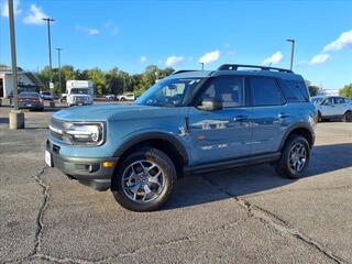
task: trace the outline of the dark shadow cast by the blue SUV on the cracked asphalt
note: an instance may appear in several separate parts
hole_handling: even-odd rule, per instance
[[[351,157],[352,143],[315,146],[306,177],[323,177],[324,173],[351,167]],[[244,196],[295,182],[277,176],[268,164],[190,176],[179,180],[175,195],[162,210],[228,199],[229,195],[219,191],[220,189],[226,189],[233,196]]]

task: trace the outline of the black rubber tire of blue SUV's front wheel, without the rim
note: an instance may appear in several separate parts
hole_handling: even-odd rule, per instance
[[[138,161],[147,161],[157,164],[163,172],[164,187],[158,196],[151,201],[135,201],[123,190],[123,174]],[[160,208],[172,195],[177,184],[177,174],[174,163],[162,151],[154,147],[138,148],[127,156],[114,172],[111,183],[111,190],[114,199],[124,208],[132,211],[153,211]]]

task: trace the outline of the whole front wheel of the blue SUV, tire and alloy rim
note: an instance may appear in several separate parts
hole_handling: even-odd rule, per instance
[[[151,211],[168,199],[176,183],[176,169],[170,158],[157,148],[143,147],[121,162],[111,189],[122,207]]]

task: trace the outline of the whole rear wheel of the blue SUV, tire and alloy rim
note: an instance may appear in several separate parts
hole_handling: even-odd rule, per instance
[[[275,164],[275,170],[286,178],[300,178],[309,164],[310,147],[307,140],[300,135],[292,135],[287,139],[282,156]]]

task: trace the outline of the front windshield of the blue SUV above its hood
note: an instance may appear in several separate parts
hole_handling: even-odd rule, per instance
[[[157,107],[180,107],[185,95],[193,90],[200,78],[169,78],[156,82],[147,89],[138,100],[136,105]]]

